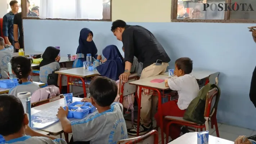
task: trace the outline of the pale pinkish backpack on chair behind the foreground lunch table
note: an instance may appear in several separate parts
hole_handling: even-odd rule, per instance
[[[36,90],[31,96],[31,103],[40,102],[42,100],[54,98],[55,96],[60,95],[59,87],[54,85],[43,87],[39,90]]]

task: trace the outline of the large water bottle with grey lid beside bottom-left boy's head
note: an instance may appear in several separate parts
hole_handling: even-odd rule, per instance
[[[31,127],[31,93],[30,92],[21,92],[17,94],[18,98],[21,100],[21,103],[24,108],[24,112],[27,113],[29,124]]]

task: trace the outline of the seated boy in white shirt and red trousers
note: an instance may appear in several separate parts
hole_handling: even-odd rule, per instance
[[[191,75],[193,69],[193,62],[190,58],[179,58],[175,61],[174,77],[169,78],[165,83],[166,87],[171,90],[178,91],[179,99],[172,100],[162,104],[162,114],[165,116],[183,117],[190,102],[197,97],[199,86],[196,77]],[[160,126],[158,112],[154,116],[157,121],[157,126]],[[168,122],[168,121],[167,121]],[[167,122],[163,121],[163,127],[166,127]],[[171,125],[170,136],[172,140],[180,135],[180,126]],[[165,130],[164,130],[165,131]]]

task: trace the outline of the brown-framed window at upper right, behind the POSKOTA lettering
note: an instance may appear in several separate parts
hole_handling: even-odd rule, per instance
[[[256,0],[172,0],[172,22],[256,22]]]

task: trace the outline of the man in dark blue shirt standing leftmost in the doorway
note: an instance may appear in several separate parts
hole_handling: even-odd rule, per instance
[[[17,0],[10,1],[11,11],[3,17],[3,33],[7,45],[14,46],[13,37],[13,19],[14,15],[19,11],[19,4]]]

